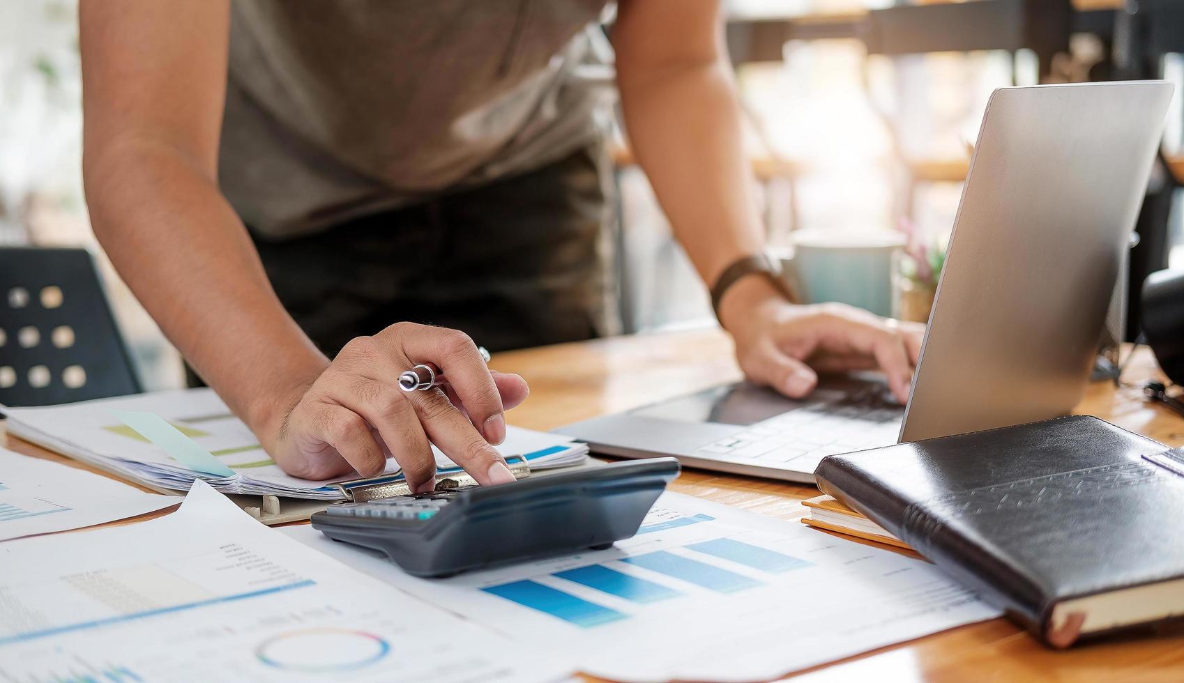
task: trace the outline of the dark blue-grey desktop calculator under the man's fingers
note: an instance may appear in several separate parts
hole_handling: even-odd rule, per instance
[[[384,553],[416,576],[609,548],[637,533],[678,476],[674,458],[651,458],[509,484],[462,487],[330,505],[313,527],[335,541]]]

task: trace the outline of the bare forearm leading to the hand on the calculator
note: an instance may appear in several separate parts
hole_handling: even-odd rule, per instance
[[[186,360],[257,433],[274,433],[328,360],[284,311],[245,227],[167,144],[88,150],[95,233]]]

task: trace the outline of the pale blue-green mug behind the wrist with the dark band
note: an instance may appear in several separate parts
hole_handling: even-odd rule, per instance
[[[892,315],[892,277],[905,236],[799,230],[790,234],[790,244],[774,258],[805,303],[839,302]]]

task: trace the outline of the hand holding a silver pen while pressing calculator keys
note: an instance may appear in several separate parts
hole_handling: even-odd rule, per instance
[[[399,373],[424,362],[448,378],[446,393],[399,389]],[[346,344],[263,440],[285,472],[308,479],[375,476],[393,457],[413,492],[431,490],[432,443],[478,483],[502,484],[514,475],[491,444],[527,393],[521,376],[490,371],[464,333],[400,322]]]

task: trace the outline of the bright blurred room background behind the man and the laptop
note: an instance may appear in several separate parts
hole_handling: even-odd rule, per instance
[[[903,314],[924,320],[991,91],[1162,77],[1177,95],[1130,278],[1184,268],[1184,2],[731,0],[727,8],[754,199],[771,244],[787,246],[798,231],[899,231],[908,256],[896,310],[912,307]],[[179,387],[176,353],[102,257],[86,220],[76,12],[75,0],[0,4],[0,244],[91,249],[144,388]],[[605,88],[620,327],[710,324],[706,290],[616,124],[610,78]]]

